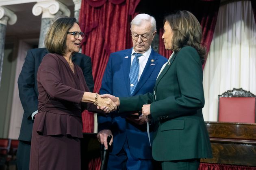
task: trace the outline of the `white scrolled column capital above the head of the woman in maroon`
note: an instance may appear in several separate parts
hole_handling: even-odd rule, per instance
[[[67,6],[56,0],[37,2],[33,6],[32,13],[35,16],[42,13],[42,18],[54,18],[56,15],[70,16]]]

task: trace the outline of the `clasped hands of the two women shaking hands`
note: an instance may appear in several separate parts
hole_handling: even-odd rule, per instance
[[[99,95],[97,99],[97,108],[104,111],[105,113],[110,113],[117,110],[120,105],[119,98],[110,94]]]

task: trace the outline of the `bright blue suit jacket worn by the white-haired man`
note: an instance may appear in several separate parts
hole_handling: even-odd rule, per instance
[[[132,49],[111,53],[104,76],[100,94],[112,94],[119,97],[130,96],[130,64]],[[152,92],[156,77],[167,59],[153,49],[141,78],[134,91],[134,96]],[[148,140],[146,125],[136,125],[125,119],[125,115],[110,113],[108,116],[98,116],[98,129],[110,129],[113,133],[112,155],[119,153],[126,138],[130,152],[137,158],[152,159],[152,147]],[[152,139],[152,133],[150,133]],[[152,143],[152,141],[151,141]]]

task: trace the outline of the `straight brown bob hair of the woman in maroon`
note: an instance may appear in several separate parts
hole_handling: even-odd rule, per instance
[[[77,23],[76,19],[70,17],[61,17],[52,23],[44,40],[46,49],[50,53],[65,54],[67,32],[74,23]]]

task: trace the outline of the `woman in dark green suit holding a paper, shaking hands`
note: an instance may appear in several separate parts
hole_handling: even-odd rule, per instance
[[[158,75],[153,93],[111,99],[119,113],[141,110],[157,122],[152,155],[163,170],[197,170],[200,158],[212,157],[202,108],[204,90],[202,29],[188,11],[168,15],[162,39],[170,59]]]

